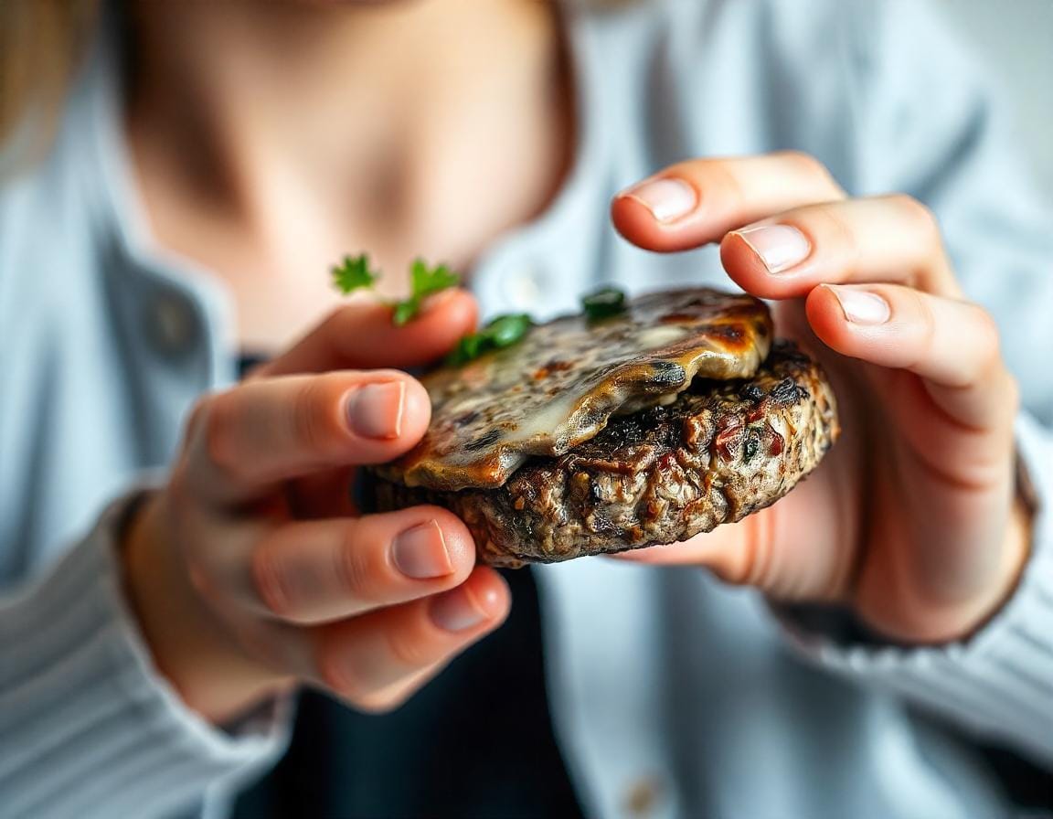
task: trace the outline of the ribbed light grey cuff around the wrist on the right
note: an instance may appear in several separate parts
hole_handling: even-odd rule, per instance
[[[820,664],[1053,765],[1053,441],[1026,418],[1017,440],[1038,501],[1031,557],[1012,598],[978,633],[932,647],[846,645],[792,618],[783,623]]]

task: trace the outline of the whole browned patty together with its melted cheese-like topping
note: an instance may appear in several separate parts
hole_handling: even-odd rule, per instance
[[[838,432],[821,368],[771,333],[763,303],[704,288],[535,326],[424,376],[429,431],[367,471],[366,499],[451,508],[505,566],[740,520],[790,492]]]

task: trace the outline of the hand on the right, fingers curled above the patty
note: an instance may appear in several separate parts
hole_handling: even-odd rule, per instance
[[[932,214],[906,196],[848,199],[816,160],[787,153],[674,165],[620,194],[613,218],[648,249],[719,241],[729,276],[779,302],[779,335],[826,366],[843,430],[777,504],[630,559],[847,603],[907,642],[980,625],[1027,557],[1017,388]]]

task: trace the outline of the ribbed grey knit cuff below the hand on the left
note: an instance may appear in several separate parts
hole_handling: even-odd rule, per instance
[[[232,736],[191,712],[152,667],[115,559],[126,502],[39,582],[0,598],[4,817],[193,812],[211,788],[233,786],[281,751],[280,714]]]

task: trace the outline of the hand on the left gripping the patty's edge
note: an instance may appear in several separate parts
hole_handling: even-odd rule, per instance
[[[396,328],[350,304],[245,382],[202,399],[167,486],[125,541],[126,582],[154,661],[221,723],[300,682],[394,707],[499,625],[509,593],[436,506],[359,517],[356,464],[410,450],[431,416],[405,373],[470,332],[451,292]]]

